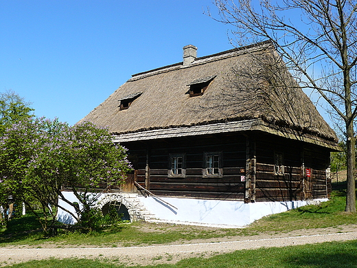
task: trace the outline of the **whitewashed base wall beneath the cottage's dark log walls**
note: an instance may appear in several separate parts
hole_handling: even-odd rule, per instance
[[[63,194],[70,201],[78,201],[71,192],[63,192]],[[100,199],[104,196],[105,194]],[[139,196],[138,198],[157,219],[162,221],[229,225],[235,227],[248,225],[263,216],[284,212],[307,204],[306,201],[244,203],[242,201],[161,198],[161,200],[174,205],[176,209],[156,197]],[[327,201],[327,199],[319,199],[319,201]],[[67,205],[63,201],[59,202],[65,208],[74,212],[74,209],[70,205]],[[57,218],[58,221],[63,223],[76,223],[76,220],[63,210],[58,210]]]

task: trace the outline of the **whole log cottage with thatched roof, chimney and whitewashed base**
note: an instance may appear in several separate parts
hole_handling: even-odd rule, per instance
[[[82,119],[128,148],[135,171],[120,192],[156,219],[227,225],[327,200],[336,135],[272,43],[196,50],[133,75]]]

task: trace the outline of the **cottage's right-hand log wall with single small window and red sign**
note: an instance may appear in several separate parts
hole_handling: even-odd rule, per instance
[[[256,150],[256,201],[297,201],[327,197],[326,168],[330,153],[324,148],[282,137],[260,135],[257,137]],[[284,174],[275,172],[275,154],[283,157]],[[312,170],[309,178],[306,168]]]

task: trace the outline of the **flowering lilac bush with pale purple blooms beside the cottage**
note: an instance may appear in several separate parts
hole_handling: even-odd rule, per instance
[[[47,218],[54,213],[48,206],[58,207],[58,197],[76,209],[73,214],[62,208],[80,223],[96,201],[90,193],[123,183],[130,168],[126,148],[89,122],[69,126],[46,118],[23,120],[0,137],[0,194],[12,194],[34,212],[34,204],[40,204],[45,231],[55,219],[54,214]],[[81,205],[65,199],[62,187],[73,191]]]

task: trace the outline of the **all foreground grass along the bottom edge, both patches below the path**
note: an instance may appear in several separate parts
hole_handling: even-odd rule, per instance
[[[152,260],[153,262],[155,260]],[[127,267],[120,260],[36,260],[12,267],[19,268],[112,268]],[[140,267],[140,266],[130,266]],[[353,268],[357,267],[357,241],[299,245],[294,247],[271,247],[254,250],[241,250],[211,258],[187,258],[174,265],[148,265],[156,268],[209,267],[209,268]]]

